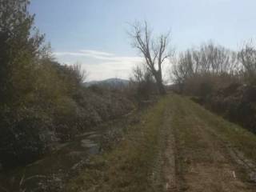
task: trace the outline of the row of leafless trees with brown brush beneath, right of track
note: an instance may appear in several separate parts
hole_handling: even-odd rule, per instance
[[[180,92],[206,96],[231,82],[254,85],[255,59],[253,44],[233,51],[209,42],[181,53],[171,75]]]

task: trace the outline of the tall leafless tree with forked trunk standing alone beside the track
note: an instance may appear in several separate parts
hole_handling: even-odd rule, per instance
[[[136,22],[132,25],[130,36],[133,38],[134,48],[137,48],[145,58],[146,67],[154,76],[159,93],[166,94],[162,82],[162,63],[171,56],[171,51],[167,52],[170,33],[152,38],[147,22]]]

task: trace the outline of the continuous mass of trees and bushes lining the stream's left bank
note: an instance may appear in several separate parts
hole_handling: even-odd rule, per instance
[[[134,106],[122,90],[84,86],[86,71],[55,61],[30,1],[0,3],[0,166],[34,162],[90,126]]]

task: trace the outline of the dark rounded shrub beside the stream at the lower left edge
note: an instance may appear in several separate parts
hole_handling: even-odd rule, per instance
[[[33,162],[46,152],[54,134],[51,119],[38,110],[2,110],[0,146],[3,166]]]

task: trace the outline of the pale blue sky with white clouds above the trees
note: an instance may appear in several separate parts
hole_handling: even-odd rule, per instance
[[[126,31],[146,20],[171,31],[176,51],[212,40],[237,50],[256,37],[255,0],[32,0],[36,26],[59,62],[80,62],[88,80],[129,78],[141,62]]]

